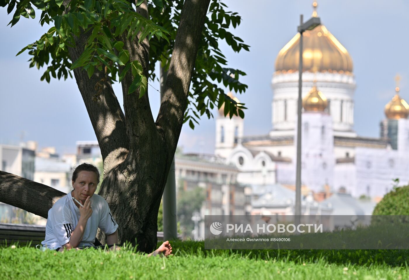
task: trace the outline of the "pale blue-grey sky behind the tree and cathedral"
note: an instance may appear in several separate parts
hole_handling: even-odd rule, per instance
[[[267,134],[271,127],[271,77],[279,50],[296,34],[299,15],[308,19],[310,0],[228,0],[227,10],[242,16],[232,31],[250,45],[250,52],[236,54],[222,45],[229,67],[247,73],[249,87],[241,102],[245,113],[245,135]],[[318,16],[327,29],[346,47],[354,63],[356,78],[355,126],[360,136],[379,137],[383,108],[394,95],[396,73],[402,76],[400,95],[409,101],[409,1],[320,0]],[[39,16],[40,13],[36,13]],[[73,153],[77,140],[96,140],[76,83],[72,79],[50,84],[40,81],[42,70],[29,68],[26,53],[15,56],[36,41],[49,27],[38,19],[21,18],[7,27],[11,15],[0,8],[0,143],[38,141],[40,147],[55,146],[57,152]],[[151,83],[158,88],[157,83]],[[115,91],[121,91],[115,86]],[[151,108],[156,118],[159,93],[149,87]],[[216,110],[213,112],[216,116]],[[215,121],[203,120],[191,130],[182,129],[179,145],[185,152],[213,153]]]

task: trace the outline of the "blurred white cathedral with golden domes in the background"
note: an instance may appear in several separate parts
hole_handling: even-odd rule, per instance
[[[245,136],[243,120],[219,110],[215,154],[238,167],[240,183],[295,185],[299,37],[297,33],[276,58],[269,133]],[[302,186],[312,192],[381,198],[392,189],[393,179],[407,184],[409,105],[398,86],[385,106],[380,138],[360,137],[353,130],[356,84],[348,51],[324,25],[303,34],[303,49]]]

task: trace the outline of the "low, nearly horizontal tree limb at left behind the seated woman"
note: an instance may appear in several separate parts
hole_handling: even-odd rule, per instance
[[[20,176],[0,171],[0,201],[47,218],[48,210],[65,193]]]

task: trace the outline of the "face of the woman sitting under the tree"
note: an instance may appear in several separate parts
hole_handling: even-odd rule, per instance
[[[90,198],[94,195],[97,190],[98,178],[97,174],[92,171],[80,171],[75,182],[72,181],[72,196],[82,203],[85,202],[88,196]]]

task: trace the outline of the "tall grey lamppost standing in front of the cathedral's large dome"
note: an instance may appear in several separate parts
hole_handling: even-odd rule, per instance
[[[298,124],[297,124],[297,169],[295,180],[295,223],[298,225],[301,221],[301,90],[302,90],[302,74],[303,74],[303,33],[306,30],[312,30],[321,24],[318,17],[310,18],[306,23],[303,23],[303,15],[300,15],[300,25],[297,31],[300,33],[300,60],[299,60],[299,77],[298,77]]]

